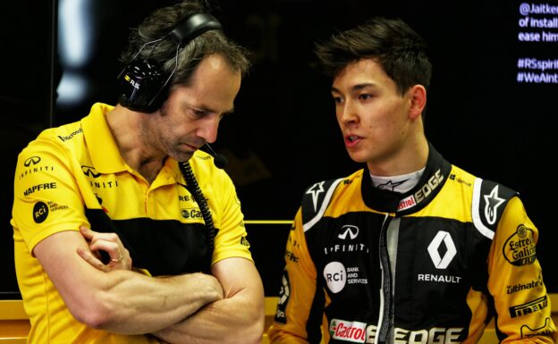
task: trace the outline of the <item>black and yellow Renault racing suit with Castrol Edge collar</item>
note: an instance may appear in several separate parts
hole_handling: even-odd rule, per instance
[[[538,231],[518,194],[429,145],[418,185],[317,182],[289,234],[272,343],[553,343]],[[533,341],[536,342],[536,341]]]

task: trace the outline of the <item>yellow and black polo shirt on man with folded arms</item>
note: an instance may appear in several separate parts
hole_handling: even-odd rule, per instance
[[[81,224],[111,231],[112,223],[135,267],[153,275],[202,269],[207,231],[177,162],[167,158],[149,185],[119,153],[105,118],[112,108],[97,103],[80,122],[44,130],[18,157],[11,223],[30,344],[157,342],[95,330],[73,318],[32,255],[56,232],[79,231]],[[190,159],[217,229],[212,263],[232,256],[251,260],[232,180],[212,160],[201,151]]]

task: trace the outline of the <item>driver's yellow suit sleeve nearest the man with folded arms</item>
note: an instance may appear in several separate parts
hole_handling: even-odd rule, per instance
[[[300,209],[287,239],[284,259],[275,321],[267,331],[269,340],[272,344],[309,343],[312,340],[308,323],[316,294],[317,273],[309,256]]]

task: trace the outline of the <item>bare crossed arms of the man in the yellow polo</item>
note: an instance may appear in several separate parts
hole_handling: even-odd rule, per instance
[[[128,270],[130,256],[115,234],[82,233],[56,233],[33,251],[79,322],[115,333],[153,333],[170,343],[261,340],[263,287],[248,260],[224,259],[213,275],[153,278]],[[114,261],[100,264],[90,254],[98,250]]]

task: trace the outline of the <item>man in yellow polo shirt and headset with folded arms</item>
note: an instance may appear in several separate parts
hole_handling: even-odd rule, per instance
[[[19,155],[28,342],[258,343],[264,295],[241,205],[199,150],[233,110],[245,52],[185,2],[152,13],[123,56],[118,105],[93,105]]]

